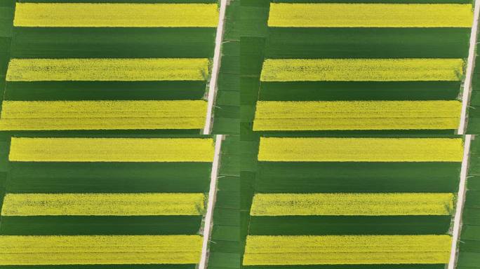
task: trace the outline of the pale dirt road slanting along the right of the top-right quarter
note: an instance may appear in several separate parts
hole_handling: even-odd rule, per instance
[[[476,34],[479,27],[479,15],[480,15],[480,0],[475,1],[474,8],[474,21],[472,24],[472,32],[470,33],[470,46],[468,50],[467,72],[465,74],[465,82],[463,83],[462,92],[462,111],[460,113],[460,125],[458,127],[458,135],[465,135],[465,129],[467,127],[467,107],[470,101],[470,92],[472,91],[472,74],[475,67],[475,54],[476,54]]]

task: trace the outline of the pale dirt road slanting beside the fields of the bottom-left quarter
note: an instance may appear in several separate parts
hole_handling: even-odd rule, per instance
[[[208,190],[208,205],[204,223],[204,242],[201,246],[201,258],[199,269],[205,269],[208,262],[208,242],[213,228],[213,209],[217,198],[217,179],[220,167],[220,152],[224,135],[215,135],[215,156],[213,156],[212,172],[210,176],[210,188]]]

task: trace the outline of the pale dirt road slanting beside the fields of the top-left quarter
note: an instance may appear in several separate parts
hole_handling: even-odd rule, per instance
[[[210,135],[213,123],[213,105],[217,95],[218,74],[220,72],[220,61],[222,53],[222,41],[225,26],[225,11],[227,9],[227,0],[220,0],[220,15],[218,16],[217,34],[215,35],[215,50],[213,53],[212,76],[208,84],[208,108],[205,118],[204,135]]]

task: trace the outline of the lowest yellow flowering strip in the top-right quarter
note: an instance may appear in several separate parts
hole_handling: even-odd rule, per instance
[[[460,101],[258,101],[253,130],[456,129]]]

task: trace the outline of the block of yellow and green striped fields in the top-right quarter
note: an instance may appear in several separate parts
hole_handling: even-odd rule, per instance
[[[263,3],[254,131],[458,128],[470,1]]]

